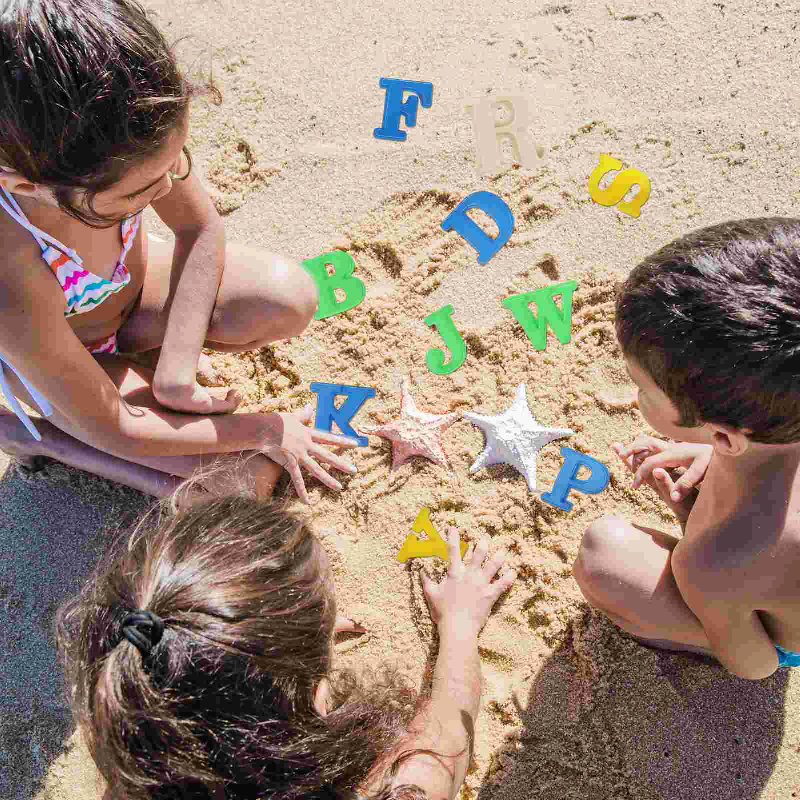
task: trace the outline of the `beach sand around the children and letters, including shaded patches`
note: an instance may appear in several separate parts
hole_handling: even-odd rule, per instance
[[[374,386],[358,428],[398,414],[404,375],[419,408],[437,414],[499,413],[526,382],[538,422],[576,432],[543,450],[538,491],[552,486],[562,444],[610,466],[606,491],[572,494],[567,514],[508,467],[470,475],[483,438],[462,421],[444,438],[452,471],[416,458],[390,474],[390,446],[372,438],[342,494],[310,482],[342,611],[370,630],[338,645],[342,662],[392,659],[430,676],[419,562],[395,558],[426,506],[440,529],[489,533],[521,570],[481,637],[478,745],[462,798],[800,793],[798,673],[747,682],[710,660],[646,650],[586,606],[570,570],[601,514],[677,530],[650,490],[630,489],[610,451],[646,429],[614,340],[614,287],[689,230],[796,214],[800,13],[752,0],[735,9],[676,0],[148,5],[171,41],[194,35],[181,58],[213,68],[224,94],[221,108],[196,104],[190,144],[229,238],[298,260],[347,250],[367,286],[361,306],[302,338],[215,358],[247,410],[297,409],[315,380]],[[406,142],[373,136],[382,76],[434,84],[433,106],[420,108]],[[530,131],[547,161],[479,178],[463,104],[499,91],[530,98]],[[650,177],[640,218],[591,202],[587,181],[604,152]],[[516,220],[486,266],[440,227],[477,190],[500,194]],[[550,334],[537,352],[502,298],[569,279],[578,282],[572,341]],[[423,318],[446,304],[469,356],[440,377],[426,368],[440,342]],[[7,470],[0,483],[0,636],[10,643],[0,794],[89,800],[98,784],[59,706],[47,625],[90,568],[103,526],[146,498],[72,470],[50,475],[24,482]]]

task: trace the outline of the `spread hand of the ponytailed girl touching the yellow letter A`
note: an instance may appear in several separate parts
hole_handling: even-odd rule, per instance
[[[430,575],[422,570],[422,589],[430,616],[440,632],[448,630],[458,638],[477,638],[489,618],[492,606],[514,583],[517,574],[510,570],[492,583],[492,578],[498,574],[506,560],[506,551],[500,550],[484,565],[483,561],[489,551],[488,536],[484,536],[477,547],[470,546],[472,559],[469,564],[462,562],[458,530],[450,528],[442,538],[447,543],[447,556],[450,558],[447,577],[441,583],[434,583]]]

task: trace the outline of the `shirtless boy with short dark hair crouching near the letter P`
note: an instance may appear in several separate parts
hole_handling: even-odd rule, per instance
[[[615,450],[684,536],[598,519],[574,564],[583,594],[640,641],[742,678],[800,666],[800,219],[663,247],[622,287],[616,326],[642,415],[679,442]]]

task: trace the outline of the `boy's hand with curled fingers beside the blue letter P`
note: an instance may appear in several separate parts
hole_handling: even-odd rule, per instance
[[[646,483],[681,522],[686,522],[697,499],[697,486],[705,477],[714,453],[712,446],[665,442],[642,434],[627,447],[614,444],[614,451],[634,473],[634,489]],[[678,467],[686,467],[680,477],[674,471]]]

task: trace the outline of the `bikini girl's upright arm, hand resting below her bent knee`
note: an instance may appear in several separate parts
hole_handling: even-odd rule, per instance
[[[153,394],[174,410],[209,414],[233,410],[197,386],[198,358],[225,269],[225,226],[194,170],[173,182],[170,194],[153,203],[175,234],[173,280],[166,301],[166,334],[153,381]]]

